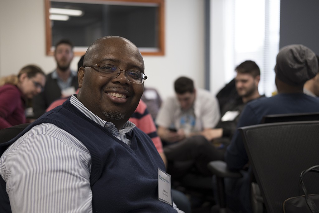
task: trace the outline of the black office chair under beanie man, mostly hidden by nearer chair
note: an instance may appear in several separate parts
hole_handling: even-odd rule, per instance
[[[311,121],[319,120],[319,113],[290,113],[274,114],[263,116],[262,123],[290,122],[290,121]],[[224,178],[241,178],[240,172],[232,172],[227,169],[224,161],[211,161],[207,165],[212,174],[216,175],[216,190],[219,200],[219,212],[226,212],[226,198],[224,193]],[[257,184],[252,183],[251,201],[254,213],[263,212],[263,197]]]

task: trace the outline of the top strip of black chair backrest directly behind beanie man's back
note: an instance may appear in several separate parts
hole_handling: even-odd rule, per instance
[[[263,116],[261,123],[263,124],[307,120],[319,120],[319,112],[265,115]]]

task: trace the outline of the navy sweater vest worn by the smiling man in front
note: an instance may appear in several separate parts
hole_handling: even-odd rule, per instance
[[[164,163],[151,139],[138,128],[132,131],[130,147],[115,138],[69,101],[34,121],[22,133],[0,147],[0,154],[32,126],[52,123],[72,134],[92,157],[90,183],[93,212],[175,212],[158,200],[158,168]],[[43,141],[45,142],[45,141]],[[1,202],[11,212],[5,182],[1,178]],[[6,203],[6,204],[5,204]],[[9,205],[9,206],[8,206]]]

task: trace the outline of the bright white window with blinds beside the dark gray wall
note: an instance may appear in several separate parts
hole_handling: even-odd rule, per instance
[[[252,60],[261,72],[259,93],[271,96],[276,90],[274,67],[279,51],[280,0],[211,0],[211,3],[211,90],[219,91],[235,77],[237,65]]]

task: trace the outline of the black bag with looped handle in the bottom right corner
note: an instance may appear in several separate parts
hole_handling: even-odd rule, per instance
[[[288,198],[283,206],[285,213],[319,213],[319,194],[309,194],[307,193],[307,189],[302,178],[309,171],[318,172],[319,165],[312,166],[309,169],[306,169],[301,172],[299,185],[302,187],[304,195],[298,197]]]

